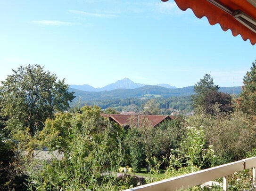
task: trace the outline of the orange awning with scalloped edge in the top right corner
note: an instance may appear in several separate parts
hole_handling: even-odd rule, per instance
[[[168,1],[168,0],[162,0]],[[185,11],[191,8],[198,18],[206,16],[209,23],[219,23],[223,31],[241,35],[256,44],[256,0],[174,0]]]

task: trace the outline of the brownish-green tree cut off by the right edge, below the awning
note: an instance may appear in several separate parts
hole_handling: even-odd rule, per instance
[[[256,116],[256,61],[243,79],[243,91],[237,99],[238,107],[245,113]]]

